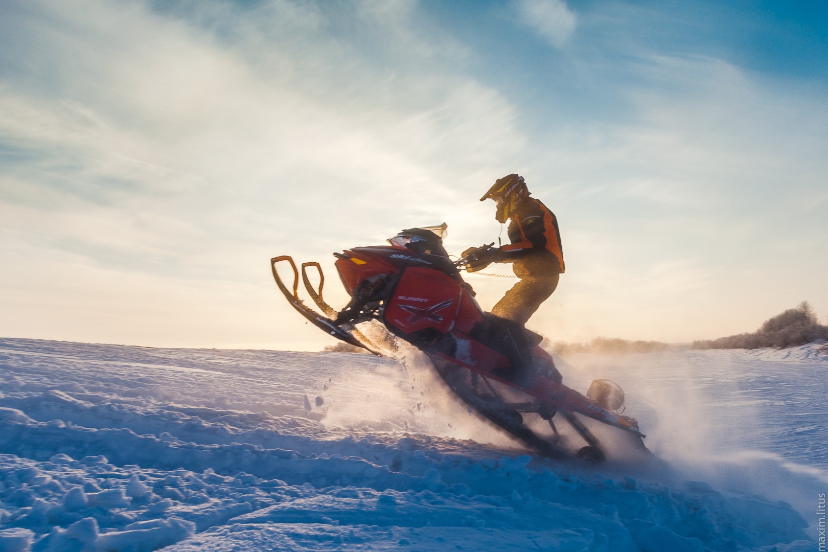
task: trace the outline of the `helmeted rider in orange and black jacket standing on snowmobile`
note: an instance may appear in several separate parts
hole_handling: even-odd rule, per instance
[[[483,270],[492,262],[511,262],[515,276],[520,281],[506,292],[494,305],[492,314],[498,320],[484,334],[508,334],[508,346],[504,353],[512,361],[516,381],[526,382],[532,373],[531,336],[523,328],[532,314],[541,306],[558,285],[564,271],[561,235],[555,214],[540,200],[529,197],[526,182],[520,175],[506,175],[495,181],[480,201],[494,199],[499,223],[506,223],[511,243],[497,248],[471,247],[463,252],[468,257],[466,269],[470,272]],[[501,328],[495,329],[496,326]]]

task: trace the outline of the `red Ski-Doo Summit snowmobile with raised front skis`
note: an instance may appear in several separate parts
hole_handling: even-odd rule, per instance
[[[445,223],[411,228],[388,239],[388,245],[334,253],[351,297],[343,310],[325,302],[325,276],[318,262],[301,265],[301,280],[321,312],[300,299],[300,270],[291,257],[271,259],[273,277],[300,314],[345,343],[390,357],[395,338],[411,343],[474,412],[543,456],[599,462],[614,456],[628,460],[630,451],[649,454],[638,422],[619,412],[619,386],[595,380],[586,395],[570,389],[539,346],[540,335],[516,329],[515,323],[479,307],[461,275],[474,259],[450,259],[442,245],[445,228]],[[291,288],[277,271],[279,263],[291,266]],[[318,275],[317,286],[310,282],[309,269]],[[515,331],[526,331],[522,343],[528,340],[531,346],[533,370],[522,382],[513,377],[520,360],[513,346]]]

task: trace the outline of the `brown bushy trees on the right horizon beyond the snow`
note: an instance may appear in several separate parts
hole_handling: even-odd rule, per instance
[[[795,309],[788,309],[772,319],[765,320],[753,334],[731,335],[727,338],[694,341],[695,349],[730,348],[784,348],[828,339],[828,326],[818,323],[816,314],[807,301]]]

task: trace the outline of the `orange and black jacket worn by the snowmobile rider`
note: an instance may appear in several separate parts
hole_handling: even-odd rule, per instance
[[[500,247],[498,261],[513,262],[520,277],[543,277],[565,269],[558,220],[538,199],[521,200],[509,223],[508,245]]]

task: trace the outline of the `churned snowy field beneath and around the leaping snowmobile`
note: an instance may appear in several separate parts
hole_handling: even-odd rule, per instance
[[[0,339],[0,551],[815,551],[822,348],[561,358],[670,463],[630,468],[526,454],[414,355]]]

